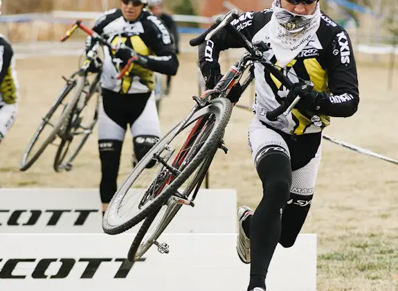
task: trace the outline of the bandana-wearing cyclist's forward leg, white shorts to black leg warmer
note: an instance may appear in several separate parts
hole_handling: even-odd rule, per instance
[[[246,219],[250,221],[246,223],[249,229],[245,232],[250,236],[251,249],[248,290],[253,290],[256,287],[265,289],[266,273],[280,239],[281,213],[291,187],[291,163],[282,136],[256,119],[249,128],[249,143],[264,191],[253,216]]]

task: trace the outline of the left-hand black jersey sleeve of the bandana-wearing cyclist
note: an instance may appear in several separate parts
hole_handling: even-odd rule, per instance
[[[249,40],[253,39],[253,36],[257,32],[259,26],[264,26],[265,23],[261,23],[264,20],[264,12],[245,12],[230,22],[237,30],[239,30]],[[213,69],[215,71],[220,70],[219,65],[219,53],[228,48],[242,48],[242,42],[239,41],[234,35],[231,35],[225,28],[216,33],[212,39],[199,45],[199,66],[201,72],[206,74],[206,71]]]

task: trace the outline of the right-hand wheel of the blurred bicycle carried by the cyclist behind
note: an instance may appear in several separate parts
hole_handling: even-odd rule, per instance
[[[89,86],[89,90],[81,92],[78,104],[73,108],[69,123],[61,134],[62,141],[58,146],[53,164],[56,172],[72,169],[72,161],[82,150],[84,143],[93,132],[98,120],[101,91],[98,81],[99,76],[96,76],[91,85],[88,83],[89,80],[86,80],[85,87]],[[76,137],[80,139],[73,143],[73,141],[76,141]]]

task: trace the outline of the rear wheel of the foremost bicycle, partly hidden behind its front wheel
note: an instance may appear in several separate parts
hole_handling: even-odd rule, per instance
[[[181,188],[183,188],[183,199],[187,201],[192,201],[192,199],[195,199],[197,191],[199,191],[201,183],[206,176],[216,151],[217,148],[213,149],[213,154],[203,161],[201,166],[199,166],[199,168],[192,173],[186,182],[181,185]],[[192,191],[194,192],[192,193]],[[127,259],[129,261],[138,261],[143,254],[145,254],[145,252],[147,252],[147,250],[154,245],[154,243],[158,245],[159,250],[161,250],[162,247],[168,249],[168,245],[158,243],[157,239],[159,236],[161,236],[163,231],[165,231],[172,219],[179,212],[181,206],[183,206],[183,203],[178,202],[178,197],[172,196],[169,198],[166,204],[161,206],[161,209],[155,211],[152,215],[145,218],[143,225],[138,230],[138,233],[136,234],[127,254]]]

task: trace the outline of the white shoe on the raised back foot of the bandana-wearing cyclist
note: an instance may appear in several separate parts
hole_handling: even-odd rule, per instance
[[[250,264],[250,239],[246,236],[243,230],[243,222],[248,218],[250,215],[253,215],[253,210],[251,210],[248,206],[241,206],[237,209],[237,219],[239,221],[239,234],[237,236],[236,242],[236,250],[237,255],[245,264]],[[256,289],[256,288],[255,288]],[[253,291],[263,291],[261,288],[260,290],[253,290]]]

